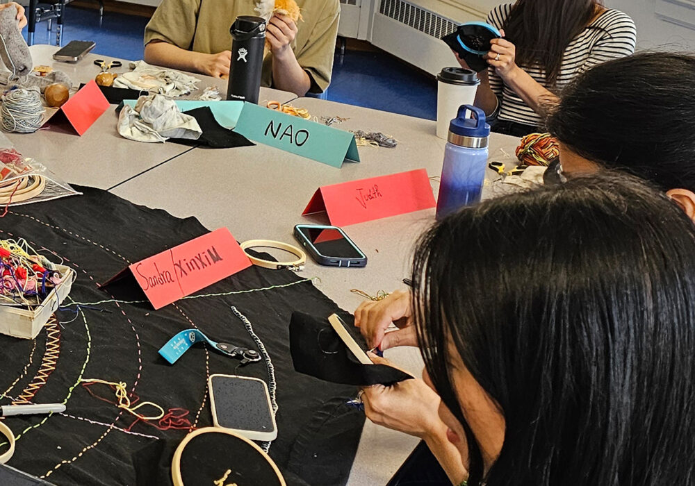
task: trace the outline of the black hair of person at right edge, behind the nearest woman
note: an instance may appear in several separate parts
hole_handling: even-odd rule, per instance
[[[647,52],[575,78],[547,120],[580,156],[695,191],[695,56]]]

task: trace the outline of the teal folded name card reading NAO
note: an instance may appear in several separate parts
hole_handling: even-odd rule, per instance
[[[244,103],[234,131],[259,144],[333,167],[341,167],[345,160],[359,162],[352,133],[253,103]]]

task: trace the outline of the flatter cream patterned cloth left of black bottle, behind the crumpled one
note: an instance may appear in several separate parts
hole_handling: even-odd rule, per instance
[[[168,97],[181,97],[198,89],[199,79],[173,69],[154,67],[145,61],[131,62],[133,71],[119,74],[113,81],[114,87],[127,87],[131,90],[146,90],[166,94]]]

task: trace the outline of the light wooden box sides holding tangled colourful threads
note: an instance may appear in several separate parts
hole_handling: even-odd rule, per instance
[[[70,294],[76,277],[75,271],[64,265],[56,265],[56,271],[63,278],[39,305],[33,308],[0,305],[0,333],[26,340],[33,340],[40,333],[67,294]]]

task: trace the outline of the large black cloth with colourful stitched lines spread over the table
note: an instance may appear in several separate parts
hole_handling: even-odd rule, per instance
[[[0,219],[0,238],[24,237],[52,260],[64,260],[76,270],[77,280],[66,303],[110,299],[97,288],[98,283],[130,262],[207,231],[193,218],[177,219],[102,190],[74,187],[84,196],[10,208]],[[292,284],[301,277],[292,271],[254,266],[197,293]],[[34,476],[50,472],[47,480],[58,486],[170,485],[172,455],[188,430],[162,431],[142,421],[133,425],[131,414],[91,396],[76,383],[79,378],[122,381],[133,392],[133,401],[137,396],[165,410],[183,408],[189,411],[191,424],[211,426],[206,377],[238,374],[267,381],[263,362],[238,368],[238,360],[196,345],[172,365],[158,355],[158,349],[194,325],[220,342],[256,349],[231,305],[252,322],[275,365],[278,437],[270,457],[288,485],[345,484],[364,422],[363,414],[345,404],[357,395],[357,387],[298,374],[290,355],[288,323],[294,310],[314,315],[341,312],[310,281],[263,292],[181,300],[158,311],[146,303],[95,304],[77,314],[58,310],[56,317],[63,322],[58,363],[34,401],[61,403],[70,395],[67,415],[6,419],[16,435],[22,433],[10,466]],[[46,337],[42,331],[34,343],[0,335],[0,392],[9,389],[1,405],[22,393],[37,374]],[[115,401],[113,390],[105,385],[90,389]],[[124,431],[131,425],[131,432],[140,435]],[[326,464],[332,464],[332,470]]]

